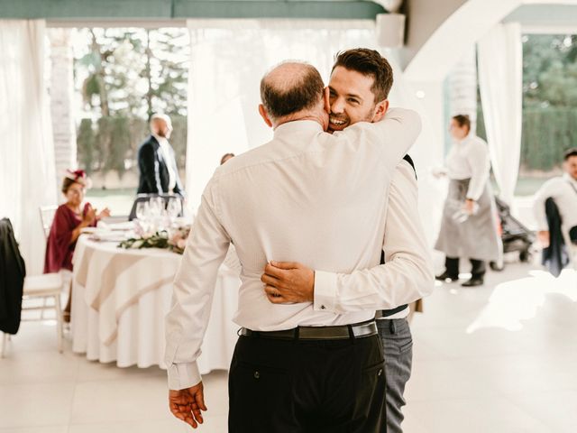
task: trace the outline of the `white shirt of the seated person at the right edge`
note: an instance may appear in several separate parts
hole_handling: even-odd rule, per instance
[[[573,189],[574,188],[574,189]],[[537,230],[548,231],[547,217],[545,215],[545,200],[553,198],[559,208],[559,214],[563,218],[563,230],[569,230],[577,226],[577,180],[568,173],[563,177],[547,180],[536,192],[533,211],[537,221]]]

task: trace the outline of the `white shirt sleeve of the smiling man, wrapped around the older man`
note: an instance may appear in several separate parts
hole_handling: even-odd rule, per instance
[[[382,244],[385,264],[350,274],[315,272],[315,305],[335,312],[394,309],[429,295],[433,259],[418,213],[415,170],[401,161],[389,189]],[[408,309],[387,318],[406,318]]]

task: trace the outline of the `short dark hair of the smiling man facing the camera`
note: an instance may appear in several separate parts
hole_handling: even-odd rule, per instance
[[[372,77],[371,92],[375,96],[375,102],[384,101],[389,97],[389,91],[393,85],[393,69],[379,51],[355,48],[337,52],[331,73],[337,66]]]

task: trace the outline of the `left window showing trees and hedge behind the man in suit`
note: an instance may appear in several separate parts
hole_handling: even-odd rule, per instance
[[[78,165],[89,199],[124,213],[138,182],[136,152],[148,119],[172,119],[170,137],[185,179],[189,38],[179,28],[78,29],[73,38]]]

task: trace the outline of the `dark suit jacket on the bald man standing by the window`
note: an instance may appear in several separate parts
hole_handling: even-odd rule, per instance
[[[182,182],[179,177],[179,169],[174,157],[174,151],[170,148],[170,161],[164,161],[160,151],[160,143],[153,135],[150,135],[138,148],[138,168],[140,180],[138,182],[138,194],[162,194],[175,193],[184,195]],[[169,191],[168,164],[176,174],[176,185]]]

